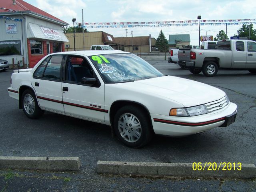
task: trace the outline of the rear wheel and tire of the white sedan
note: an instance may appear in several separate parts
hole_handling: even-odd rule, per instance
[[[30,89],[22,93],[22,109],[28,118],[36,119],[40,117],[44,110],[40,109],[34,92]]]

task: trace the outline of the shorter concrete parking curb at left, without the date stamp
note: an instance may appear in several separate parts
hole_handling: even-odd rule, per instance
[[[4,157],[0,156],[0,169],[78,171],[78,157]]]

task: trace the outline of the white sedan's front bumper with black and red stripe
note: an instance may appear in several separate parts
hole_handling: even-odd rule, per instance
[[[192,135],[216,127],[226,127],[236,119],[236,104],[215,114],[204,114],[192,117],[174,117],[151,114],[155,134],[166,136]]]

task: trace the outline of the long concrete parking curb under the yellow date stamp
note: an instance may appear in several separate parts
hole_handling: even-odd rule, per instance
[[[184,177],[219,177],[219,178],[241,178],[248,179],[256,177],[256,167],[254,164],[242,164],[239,171],[208,170],[209,166],[202,164],[202,170],[193,170],[192,163],[146,163],[146,162],[115,162],[115,161],[98,161],[97,172],[118,174],[118,175],[143,175],[143,176],[184,176]],[[217,164],[219,165],[219,163]],[[204,171],[203,171],[204,168]],[[212,168],[212,167],[210,167]],[[227,167],[225,167],[227,168]],[[225,169],[224,168],[224,169]],[[218,167],[217,167],[218,169]]]

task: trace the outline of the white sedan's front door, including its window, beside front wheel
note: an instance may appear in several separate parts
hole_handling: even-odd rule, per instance
[[[82,56],[68,56],[65,81],[62,83],[63,104],[66,114],[104,122],[104,83],[97,78],[88,60]],[[94,85],[82,84],[82,78],[97,78]]]

